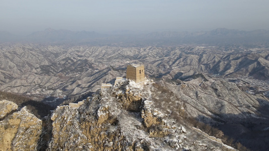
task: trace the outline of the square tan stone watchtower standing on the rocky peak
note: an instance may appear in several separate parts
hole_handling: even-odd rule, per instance
[[[136,83],[145,80],[145,70],[143,64],[128,64],[126,79],[133,80]]]

